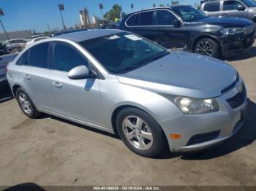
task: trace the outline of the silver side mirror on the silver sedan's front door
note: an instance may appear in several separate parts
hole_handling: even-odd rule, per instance
[[[67,77],[69,77],[69,79],[89,79],[95,78],[96,74],[94,71],[90,71],[87,66],[82,65],[71,69]]]

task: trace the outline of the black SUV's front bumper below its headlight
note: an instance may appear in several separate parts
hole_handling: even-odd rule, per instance
[[[222,55],[230,56],[241,52],[246,52],[255,42],[255,31],[252,34],[234,34],[219,36],[222,46]]]

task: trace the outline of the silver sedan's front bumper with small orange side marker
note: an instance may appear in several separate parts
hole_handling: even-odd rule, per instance
[[[233,90],[217,98],[219,112],[183,115],[160,121],[171,152],[193,152],[219,144],[233,136],[243,125],[249,100],[246,90],[243,103],[233,109],[227,99],[236,95]],[[170,139],[170,134],[181,135],[181,139]],[[194,139],[195,137],[202,137]],[[207,135],[207,136],[206,136]],[[214,136],[211,136],[214,135]],[[199,140],[199,141],[198,141]]]

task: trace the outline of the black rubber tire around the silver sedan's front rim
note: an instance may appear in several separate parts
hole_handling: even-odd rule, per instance
[[[123,125],[123,120],[128,116],[140,117],[141,120],[146,122],[146,126],[150,128],[151,134],[153,136],[153,142],[150,148],[146,150],[138,149],[127,140],[126,136],[124,135],[124,130],[122,125]],[[140,109],[129,107],[129,108],[122,109],[120,112],[118,112],[116,117],[116,127],[118,131],[118,135],[120,136],[124,144],[133,152],[143,157],[156,157],[167,146],[165,133],[163,133],[162,128],[160,127],[158,122],[154,120],[154,118],[151,117],[150,114]]]

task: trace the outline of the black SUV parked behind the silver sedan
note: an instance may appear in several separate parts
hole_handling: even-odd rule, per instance
[[[166,48],[219,58],[252,47],[252,21],[236,17],[209,17],[189,5],[159,7],[132,12],[120,29],[139,34]]]

